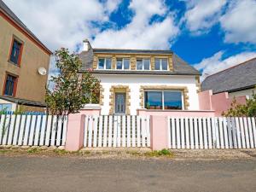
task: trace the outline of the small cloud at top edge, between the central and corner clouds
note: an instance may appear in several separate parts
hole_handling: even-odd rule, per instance
[[[192,0],[186,1],[188,11],[183,20],[190,32],[201,34],[208,32],[218,22],[226,0]]]

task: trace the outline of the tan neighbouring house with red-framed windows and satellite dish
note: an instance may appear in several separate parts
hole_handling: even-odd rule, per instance
[[[0,0],[0,110],[44,110],[52,54]]]

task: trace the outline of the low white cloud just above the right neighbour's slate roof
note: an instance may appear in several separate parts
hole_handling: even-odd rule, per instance
[[[200,63],[194,65],[195,68],[203,70],[202,79],[212,73],[217,73],[228,67],[235,66],[243,61],[256,57],[256,52],[242,52],[223,59],[224,51],[219,51],[211,57],[203,59]]]

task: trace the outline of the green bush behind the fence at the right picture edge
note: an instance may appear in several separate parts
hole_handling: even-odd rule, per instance
[[[234,98],[231,108],[223,115],[225,117],[256,117],[256,94],[247,99],[244,105],[237,103],[236,98]]]

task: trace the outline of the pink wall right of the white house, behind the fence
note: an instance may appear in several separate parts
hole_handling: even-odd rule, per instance
[[[229,97],[228,92],[212,94],[212,90],[206,90],[199,93],[199,106],[201,110],[214,110],[216,116],[227,111],[233,98]],[[246,103],[246,96],[236,97],[236,101],[241,104]]]

